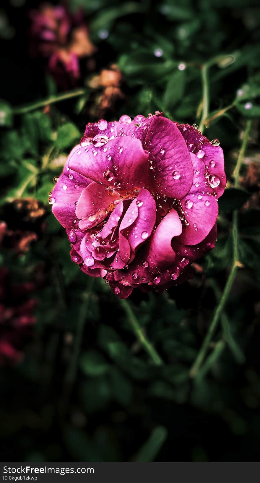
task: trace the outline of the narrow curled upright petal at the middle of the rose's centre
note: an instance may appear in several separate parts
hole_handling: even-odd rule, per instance
[[[140,189],[119,227],[119,255],[129,263],[137,248],[151,235],[156,217],[156,205],[149,191]]]

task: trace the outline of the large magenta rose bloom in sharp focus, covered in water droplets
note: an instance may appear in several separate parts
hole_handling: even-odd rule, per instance
[[[49,202],[73,262],[126,298],[192,277],[215,246],[225,185],[219,141],[157,111],[87,124]]]

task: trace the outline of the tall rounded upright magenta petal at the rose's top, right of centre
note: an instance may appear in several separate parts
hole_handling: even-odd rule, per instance
[[[153,117],[146,136],[156,192],[181,199],[192,186],[193,169],[178,127],[164,117]]]

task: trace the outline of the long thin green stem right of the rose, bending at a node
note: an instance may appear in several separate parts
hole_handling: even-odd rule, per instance
[[[236,167],[235,167],[235,170],[234,170],[234,176],[235,176],[234,185],[235,185],[235,187],[237,187],[238,184],[239,184],[239,172],[240,172],[240,167],[241,167],[243,158],[245,156],[246,146],[247,146],[247,142],[248,142],[248,139],[249,139],[251,124],[252,124],[252,121],[247,120],[242,145],[241,145],[241,148],[240,148],[240,151],[239,151],[239,155],[238,155],[237,162],[236,162]],[[215,329],[216,329],[218,322],[219,322],[219,317],[220,317],[222,310],[225,306],[225,303],[226,303],[228,295],[229,295],[229,291],[230,291],[231,286],[233,284],[233,280],[234,280],[236,270],[237,270],[238,267],[241,267],[241,263],[239,261],[239,253],[238,253],[238,211],[237,210],[235,210],[234,213],[233,213],[232,235],[233,235],[233,264],[232,264],[232,268],[231,268],[231,271],[229,273],[229,276],[228,276],[226,285],[224,287],[222,296],[219,300],[219,304],[217,305],[213,319],[211,321],[211,324],[208,328],[207,334],[206,334],[205,339],[203,341],[203,344],[202,344],[202,346],[199,350],[199,353],[198,353],[194,363],[192,364],[192,368],[190,370],[190,376],[193,377],[193,378],[198,373],[198,370],[199,370],[199,368],[200,368],[200,366],[201,366],[201,364],[204,360],[204,357],[207,353],[210,341],[211,341],[211,339],[212,339],[212,337],[215,333]]]

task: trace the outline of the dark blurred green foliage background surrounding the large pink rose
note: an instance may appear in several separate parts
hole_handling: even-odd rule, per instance
[[[28,11],[37,5],[13,0],[1,6],[2,109],[10,110],[11,117],[13,108],[59,92],[43,59],[28,54]],[[1,266],[7,270],[2,304],[17,308],[25,299],[37,300],[36,323],[18,341],[23,359],[1,361],[1,459],[259,461],[260,7],[243,0],[68,2],[69,10],[78,7],[83,7],[98,49],[91,70],[82,61],[82,104],[76,98],[44,112],[30,110],[14,115],[1,129],[0,218],[9,229],[1,247]],[[102,30],[108,30],[104,40]],[[156,48],[162,57],[154,56]],[[216,248],[198,261],[191,282],[163,295],[136,290],[129,298],[164,360],[164,366],[154,367],[109,287],[96,279],[92,286],[71,262],[48,192],[62,169],[60,156],[78,142],[87,122],[98,120],[101,89],[89,87],[93,75],[115,63],[122,71],[124,97],[103,115],[107,120],[159,110],[193,124],[200,117],[201,66],[219,56],[222,60],[209,72],[210,114],[233,103],[238,89],[243,87],[245,95],[205,129],[209,139],[220,141],[228,177],[219,201]],[[179,63],[185,63],[183,71]],[[246,102],[252,103],[250,110]],[[246,118],[252,118],[252,128],[241,189],[228,191]],[[59,137],[57,144],[54,133],[63,126],[66,141]],[[32,181],[28,162],[38,173]],[[41,207],[33,220],[27,206],[21,210],[17,205],[17,199],[28,198]],[[189,369],[232,263],[234,209],[239,209],[242,268],[225,306],[232,342],[226,341],[219,321],[208,354],[221,340],[223,350],[204,374],[191,380]],[[27,232],[36,238],[27,250],[17,250],[17,240]],[[19,295],[15,284],[27,283],[26,296]],[[83,334],[77,355],[79,327]]]

